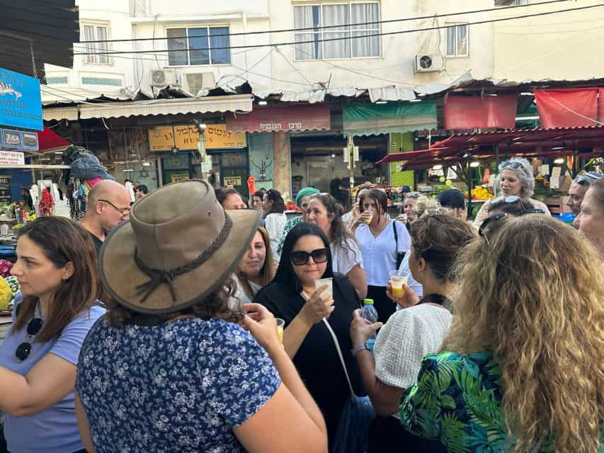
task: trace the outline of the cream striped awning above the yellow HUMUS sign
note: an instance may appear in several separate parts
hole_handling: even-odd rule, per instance
[[[80,118],[118,118],[179,113],[251,112],[253,96],[210,96],[207,98],[151,99],[149,101],[86,103],[79,105]]]

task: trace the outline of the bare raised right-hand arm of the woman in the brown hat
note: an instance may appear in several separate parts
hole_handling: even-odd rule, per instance
[[[251,453],[327,452],[327,429],[321,411],[281,347],[275,318],[261,304],[245,304],[255,313],[246,316],[244,327],[260,343],[282,384],[251,418],[234,428],[234,435]]]

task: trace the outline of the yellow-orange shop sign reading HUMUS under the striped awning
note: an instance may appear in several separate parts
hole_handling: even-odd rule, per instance
[[[245,148],[245,132],[228,132],[227,125],[207,125],[205,132],[206,149]],[[173,147],[181,150],[195,150],[199,142],[199,132],[194,125],[159,126],[149,130],[151,151],[170,151]]]

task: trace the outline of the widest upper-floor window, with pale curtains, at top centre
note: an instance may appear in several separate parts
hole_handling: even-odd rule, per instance
[[[295,42],[300,42],[295,46],[295,58],[379,57],[380,37],[370,35],[380,33],[380,24],[367,23],[377,21],[380,21],[378,3],[294,6],[294,27],[314,28],[295,33]],[[319,28],[325,26],[334,28]]]

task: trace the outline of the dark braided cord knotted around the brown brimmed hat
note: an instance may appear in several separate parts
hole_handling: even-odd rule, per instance
[[[208,248],[206,248],[200,254],[200,256],[195,258],[195,260],[191,261],[188,264],[181,265],[176,269],[159,270],[159,269],[149,268],[149,266],[147,266],[145,263],[143,263],[142,260],[139,258],[138,250],[135,248],[135,256],[134,256],[135,264],[138,266],[138,268],[140,270],[142,270],[143,273],[147,274],[150,277],[149,280],[147,280],[147,282],[144,282],[142,285],[138,285],[136,287],[137,292],[139,294],[144,292],[144,295],[141,299],[141,303],[144,304],[144,302],[155,291],[155,289],[157,289],[157,287],[159,287],[159,285],[164,285],[164,284],[168,285],[168,287],[170,288],[172,302],[176,302],[176,291],[174,290],[174,287],[172,285],[172,280],[174,280],[179,275],[189,273],[191,270],[194,270],[194,269],[198,268],[200,265],[202,265],[203,263],[205,263],[205,261],[207,261],[215,253],[215,251],[217,251],[217,249],[220,246],[222,246],[224,241],[227,240],[227,237],[229,236],[229,233],[231,232],[232,226],[233,226],[233,221],[231,220],[231,217],[229,217],[228,214],[225,212],[224,213],[224,226],[222,227],[222,231],[220,231],[220,234],[218,234],[218,236],[210,244],[210,246]]]

